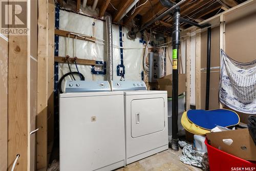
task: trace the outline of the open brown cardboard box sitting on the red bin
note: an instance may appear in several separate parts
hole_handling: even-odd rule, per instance
[[[248,129],[206,133],[209,144],[223,152],[237,156],[245,160],[256,161],[256,145],[254,144]],[[231,139],[228,145],[223,139]]]

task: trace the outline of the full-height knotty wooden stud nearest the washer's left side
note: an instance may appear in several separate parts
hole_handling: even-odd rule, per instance
[[[47,169],[54,138],[54,13],[53,0],[38,0],[37,127],[42,129],[37,132],[37,169],[41,170]]]

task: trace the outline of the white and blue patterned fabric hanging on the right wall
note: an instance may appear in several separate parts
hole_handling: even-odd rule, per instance
[[[242,63],[221,50],[220,102],[247,114],[256,114],[256,60]]]

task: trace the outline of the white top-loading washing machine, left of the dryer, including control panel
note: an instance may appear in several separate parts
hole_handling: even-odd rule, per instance
[[[59,98],[60,170],[124,166],[123,92],[111,92],[108,81],[69,81],[65,90]]]

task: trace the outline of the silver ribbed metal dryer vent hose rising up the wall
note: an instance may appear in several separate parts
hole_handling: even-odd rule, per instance
[[[106,71],[108,73],[108,81],[113,80],[113,36],[112,36],[112,18],[110,15],[105,15],[106,19],[106,53],[108,55],[108,63]]]

